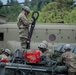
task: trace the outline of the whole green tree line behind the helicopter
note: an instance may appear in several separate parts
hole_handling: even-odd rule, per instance
[[[21,8],[26,5],[31,8],[31,13],[39,11],[39,23],[76,24],[76,5],[73,0],[25,0],[23,4],[17,0],[7,0],[6,5],[3,6],[0,1],[0,14],[5,15],[8,22],[16,22]]]

